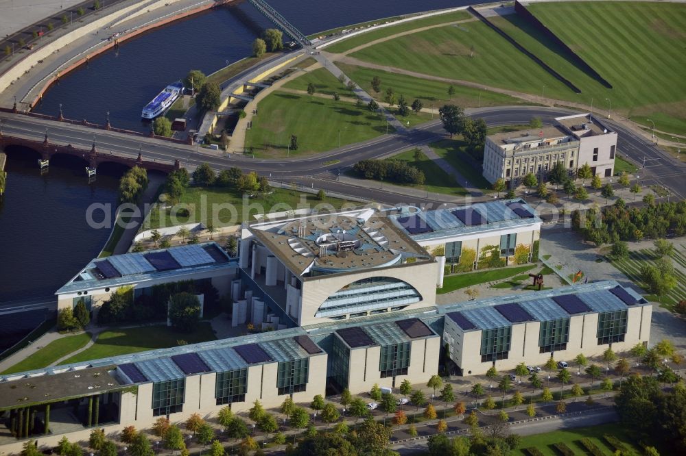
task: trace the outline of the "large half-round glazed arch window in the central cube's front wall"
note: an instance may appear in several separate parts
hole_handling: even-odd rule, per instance
[[[421,299],[421,294],[410,283],[392,277],[371,277],[349,283],[329,296],[315,316],[335,318],[346,314],[399,310]]]

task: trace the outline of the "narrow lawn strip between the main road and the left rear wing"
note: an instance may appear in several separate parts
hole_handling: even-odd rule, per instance
[[[141,230],[198,222],[213,223],[215,227],[224,227],[236,225],[245,220],[253,220],[252,216],[255,214],[296,210],[300,207],[317,207],[319,204],[333,205],[338,209],[345,203],[349,202],[329,197],[324,197],[324,200],[320,201],[315,194],[301,194],[283,188],[274,188],[271,194],[248,198],[227,188],[191,187],[186,190],[180,201],[180,204],[185,204],[189,208],[188,216],[177,216],[174,221],[171,220],[170,210],[161,210],[159,205],[155,205],[145,218]],[[354,204],[351,203],[351,205]]]

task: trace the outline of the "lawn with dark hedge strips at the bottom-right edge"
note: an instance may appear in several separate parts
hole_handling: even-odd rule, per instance
[[[559,453],[553,447],[553,444],[564,443],[571,451],[577,455],[586,455],[587,451],[581,445],[582,438],[588,438],[598,446],[606,455],[612,455],[615,448],[610,446],[602,437],[603,434],[614,435],[619,440],[622,440],[635,455],[642,455],[643,451],[638,446],[632,443],[632,433],[629,429],[622,427],[617,423],[608,425],[598,425],[592,427],[579,427],[576,429],[567,429],[564,431],[552,431],[542,434],[527,435],[521,438],[518,450],[512,451],[512,455],[529,455],[523,448],[535,446],[545,456],[557,456]]]

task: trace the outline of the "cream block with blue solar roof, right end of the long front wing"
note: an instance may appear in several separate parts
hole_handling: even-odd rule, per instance
[[[648,343],[652,305],[615,281],[442,307],[443,339],[462,375],[541,366]]]

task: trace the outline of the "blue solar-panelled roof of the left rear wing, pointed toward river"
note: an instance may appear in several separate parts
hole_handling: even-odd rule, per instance
[[[139,283],[176,277],[199,270],[237,267],[216,242],[190,244],[146,252],[130,252],[95,258],[55,294]]]

